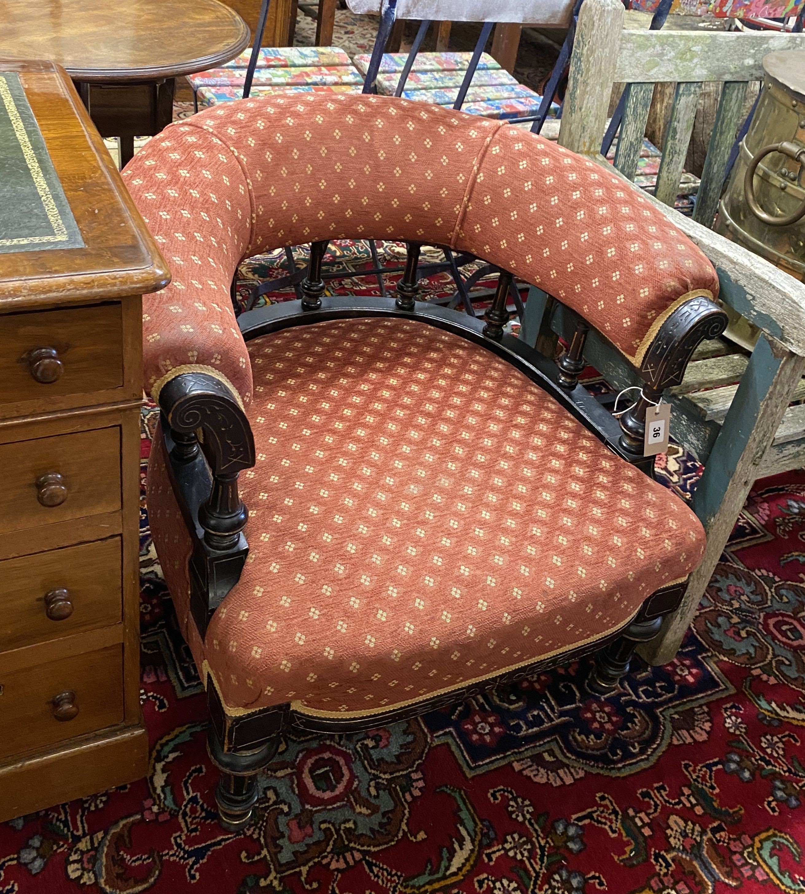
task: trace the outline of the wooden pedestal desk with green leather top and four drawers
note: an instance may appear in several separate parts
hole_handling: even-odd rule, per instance
[[[169,278],[66,72],[0,60],[0,821],[148,770],[140,295]]]

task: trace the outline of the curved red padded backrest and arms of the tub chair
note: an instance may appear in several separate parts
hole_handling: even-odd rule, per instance
[[[151,140],[124,177],[174,277],[146,299],[148,390],[204,362],[250,400],[230,285],[242,257],[281,246],[375,238],[470,251],[554,295],[638,364],[682,300],[717,291],[708,259],[614,171],[504,122],[401,99],[214,107]],[[159,316],[188,300],[208,331],[165,334]]]

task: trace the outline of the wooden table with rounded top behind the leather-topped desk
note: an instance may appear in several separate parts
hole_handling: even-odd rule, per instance
[[[64,66],[121,165],[171,122],[177,77],[233,59],[249,29],[217,0],[0,0],[0,56]]]

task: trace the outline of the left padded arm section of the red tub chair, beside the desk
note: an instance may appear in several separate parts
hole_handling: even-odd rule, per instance
[[[156,397],[165,375],[203,366],[248,402],[249,355],[229,291],[251,222],[237,156],[205,131],[172,125],[140,149],[123,178],[172,276],[167,289],[143,296],[146,391]]]

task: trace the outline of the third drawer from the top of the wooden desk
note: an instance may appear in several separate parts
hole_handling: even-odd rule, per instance
[[[0,561],[0,652],[120,622],[121,541]]]

